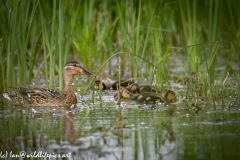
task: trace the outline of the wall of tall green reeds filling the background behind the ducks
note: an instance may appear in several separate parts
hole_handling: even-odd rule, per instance
[[[209,78],[201,80],[204,83],[213,82],[219,57],[229,58],[220,65],[230,65],[233,56],[225,50],[231,48],[231,55],[240,59],[235,54],[239,52],[235,10],[240,6],[236,1],[0,3],[1,91],[17,83],[29,84],[35,76],[62,89],[62,69],[68,60],[80,61],[93,72],[105,64],[101,77],[107,68],[116,75],[118,65],[107,59],[118,52],[124,53],[120,54],[122,75],[126,67],[129,78],[155,75],[160,88],[170,80],[172,54],[187,54],[186,71],[206,70]],[[174,47],[186,50],[172,52]]]

